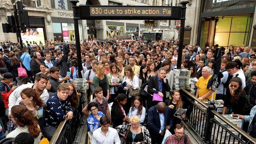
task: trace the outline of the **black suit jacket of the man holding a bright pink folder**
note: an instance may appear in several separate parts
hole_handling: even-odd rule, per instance
[[[162,93],[166,94],[166,92],[170,92],[171,88],[168,84],[168,80],[166,79],[166,84],[162,81]],[[152,76],[148,82],[148,93],[149,94],[157,94],[159,92],[158,88],[158,75]]]

